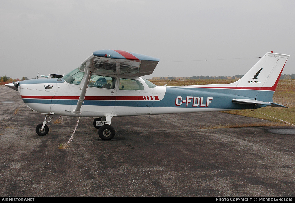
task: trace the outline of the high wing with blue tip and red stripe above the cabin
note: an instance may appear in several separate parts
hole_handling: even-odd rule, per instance
[[[145,76],[152,74],[159,62],[158,58],[121,51],[98,50],[81,63],[80,71],[86,67],[94,68],[96,73]]]

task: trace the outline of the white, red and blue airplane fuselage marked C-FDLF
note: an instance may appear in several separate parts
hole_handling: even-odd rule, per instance
[[[19,82],[24,103],[42,114],[77,117],[76,108],[81,84],[86,76],[76,78],[42,78]],[[253,109],[253,104],[235,104],[232,99],[251,99],[247,90],[210,88],[209,86],[156,86],[141,77],[92,76],[81,108],[81,117],[207,112],[234,109]],[[106,80],[103,78],[106,78]],[[73,80],[74,79],[74,80]],[[134,83],[134,84],[133,84]],[[108,85],[109,84],[109,85]],[[107,86],[108,85],[108,86]],[[237,94],[242,91],[242,94]],[[253,90],[250,90],[253,94]],[[237,96],[245,95],[245,96]],[[257,105],[255,108],[262,107]]]

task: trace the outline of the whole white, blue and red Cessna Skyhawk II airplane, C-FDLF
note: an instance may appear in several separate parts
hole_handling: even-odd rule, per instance
[[[98,50],[62,78],[10,83],[24,103],[45,115],[38,135],[49,131],[50,115],[92,117],[99,137],[115,135],[112,117],[149,114],[256,109],[272,102],[289,55],[268,52],[240,80],[231,84],[156,86],[141,78],[153,73],[158,58],[120,51]],[[47,121],[47,119],[50,119]]]

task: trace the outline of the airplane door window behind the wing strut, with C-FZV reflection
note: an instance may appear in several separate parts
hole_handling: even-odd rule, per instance
[[[98,87],[104,89],[115,89],[116,78],[110,76],[92,75],[89,81],[89,87]]]

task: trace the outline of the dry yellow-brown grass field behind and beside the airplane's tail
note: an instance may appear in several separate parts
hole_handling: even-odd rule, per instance
[[[156,85],[164,86],[169,80],[150,80]],[[181,86],[181,85],[204,85],[204,84],[226,84],[232,83],[235,80],[185,80],[185,81],[170,81],[167,86]],[[263,107],[260,109],[252,110],[234,110],[224,111],[224,113],[237,114],[241,116],[254,117],[265,119],[269,121],[281,122],[284,120],[295,125],[295,80],[279,80],[276,91],[273,94],[273,102],[282,104],[289,108],[280,107]],[[269,115],[265,116],[263,114]],[[280,119],[280,120],[278,120]],[[289,125],[289,124],[287,124]]]

